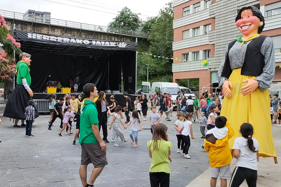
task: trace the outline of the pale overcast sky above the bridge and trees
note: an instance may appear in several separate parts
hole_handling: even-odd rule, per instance
[[[141,20],[159,14],[171,0],[0,0],[1,10],[25,13],[28,9],[51,12],[51,18],[107,26],[125,6]]]

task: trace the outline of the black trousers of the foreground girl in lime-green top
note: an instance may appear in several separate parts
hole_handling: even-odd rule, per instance
[[[165,172],[149,172],[150,186],[151,187],[169,187],[170,186],[170,173]]]

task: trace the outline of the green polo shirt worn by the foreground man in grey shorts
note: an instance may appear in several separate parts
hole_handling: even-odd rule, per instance
[[[98,142],[92,131],[93,124],[97,124],[97,127],[99,127],[99,120],[97,115],[98,113],[96,109],[96,103],[85,99],[84,106],[82,108],[82,113],[80,116],[79,144],[94,144]]]

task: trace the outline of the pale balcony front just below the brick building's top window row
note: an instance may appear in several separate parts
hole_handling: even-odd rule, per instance
[[[206,20],[209,18],[210,18],[209,9],[207,8],[207,9],[201,10],[199,12],[195,12],[195,13],[189,14],[187,16],[175,19],[173,21],[173,29],[181,27],[181,26],[189,25],[191,23],[200,22],[202,20]]]

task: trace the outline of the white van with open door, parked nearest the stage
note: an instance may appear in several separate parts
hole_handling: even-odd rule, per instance
[[[180,92],[179,85],[177,83],[168,83],[168,82],[154,82],[151,85],[149,82],[142,82],[142,93],[147,95],[147,98],[152,98],[154,92],[168,93],[172,95],[172,103],[175,105],[176,97],[178,96],[178,92]]]

